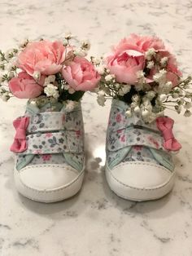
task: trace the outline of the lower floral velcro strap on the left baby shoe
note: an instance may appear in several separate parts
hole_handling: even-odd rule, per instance
[[[27,136],[28,148],[20,155],[53,154],[59,152],[83,152],[83,139],[80,130],[65,130],[55,133],[37,133]]]

